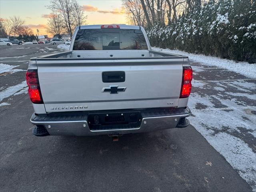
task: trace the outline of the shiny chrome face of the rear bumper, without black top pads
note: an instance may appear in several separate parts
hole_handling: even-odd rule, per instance
[[[104,134],[128,134],[128,133],[141,133],[151,132],[155,130],[175,128],[182,117],[190,116],[190,110],[187,107],[185,112],[166,116],[149,116],[146,113],[142,115],[142,122],[138,128],[120,128],[111,130],[90,130],[88,123],[85,119],[86,115],[81,115],[74,120],[49,120],[49,118],[35,118],[33,114],[30,121],[35,125],[43,125],[50,135],[73,135],[73,136],[92,136]],[[152,113],[151,113],[152,114]],[[70,116],[70,115],[69,115]]]

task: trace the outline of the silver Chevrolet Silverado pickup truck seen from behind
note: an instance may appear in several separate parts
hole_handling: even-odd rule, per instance
[[[68,52],[30,59],[33,134],[113,138],[189,125],[187,56],[151,49],[145,30],[79,26]]]

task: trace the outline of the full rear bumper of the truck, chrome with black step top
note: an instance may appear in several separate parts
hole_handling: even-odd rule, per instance
[[[30,121],[37,126],[44,126],[50,135],[92,136],[103,134],[128,134],[151,132],[168,128],[175,128],[181,118],[190,116],[190,109],[158,109],[143,110],[140,126],[129,127],[122,125],[120,128],[108,130],[91,130],[88,125],[88,114],[58,114],[40,115],[33,114]]]

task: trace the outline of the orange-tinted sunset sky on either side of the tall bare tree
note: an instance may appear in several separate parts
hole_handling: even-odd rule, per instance
[[[126,24],[126,14],[122,10],[122,0],[78,0],[87,15],[87,24]],[[0,0],[0,17],[20,16],[34,34],[47,34],[45,25],[50,10],[46,7],[50,0]]]

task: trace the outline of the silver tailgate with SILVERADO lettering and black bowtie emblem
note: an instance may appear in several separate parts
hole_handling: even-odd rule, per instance
[[[178,106],[182,63],[181,58],[36,61],[46,112]],[[123,72],[125,80],[112,76],[103,82],[103,72]]]

